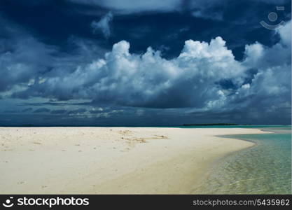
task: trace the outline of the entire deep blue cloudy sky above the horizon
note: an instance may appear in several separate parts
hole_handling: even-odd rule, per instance
[[[0,1],[0,126],[186,123],[291,125],[291,1]]]

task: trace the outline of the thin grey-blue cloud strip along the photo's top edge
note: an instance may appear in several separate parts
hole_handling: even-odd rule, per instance
[[[117,14],[131,14],[131,13],[167,13],[167,12],[190,12],[194,16],[199,18],[211,18],[222,20],[225,12],[225,8],[230,4],[235,4],[232,0],[67,0],[73,3],[79,3],[88,6],[99,6],[107,10],[113,10]],[[236,1],[238,2],[238,1]],[[250,5],[260,5],[259,3],[267,3],[271,5],[279,5],[287,3],[288,0],[246,0],[244,2],[245,7]],[[240,2],[240,3],[241,3]],[[242,9],[242,8],[241,8]]]

